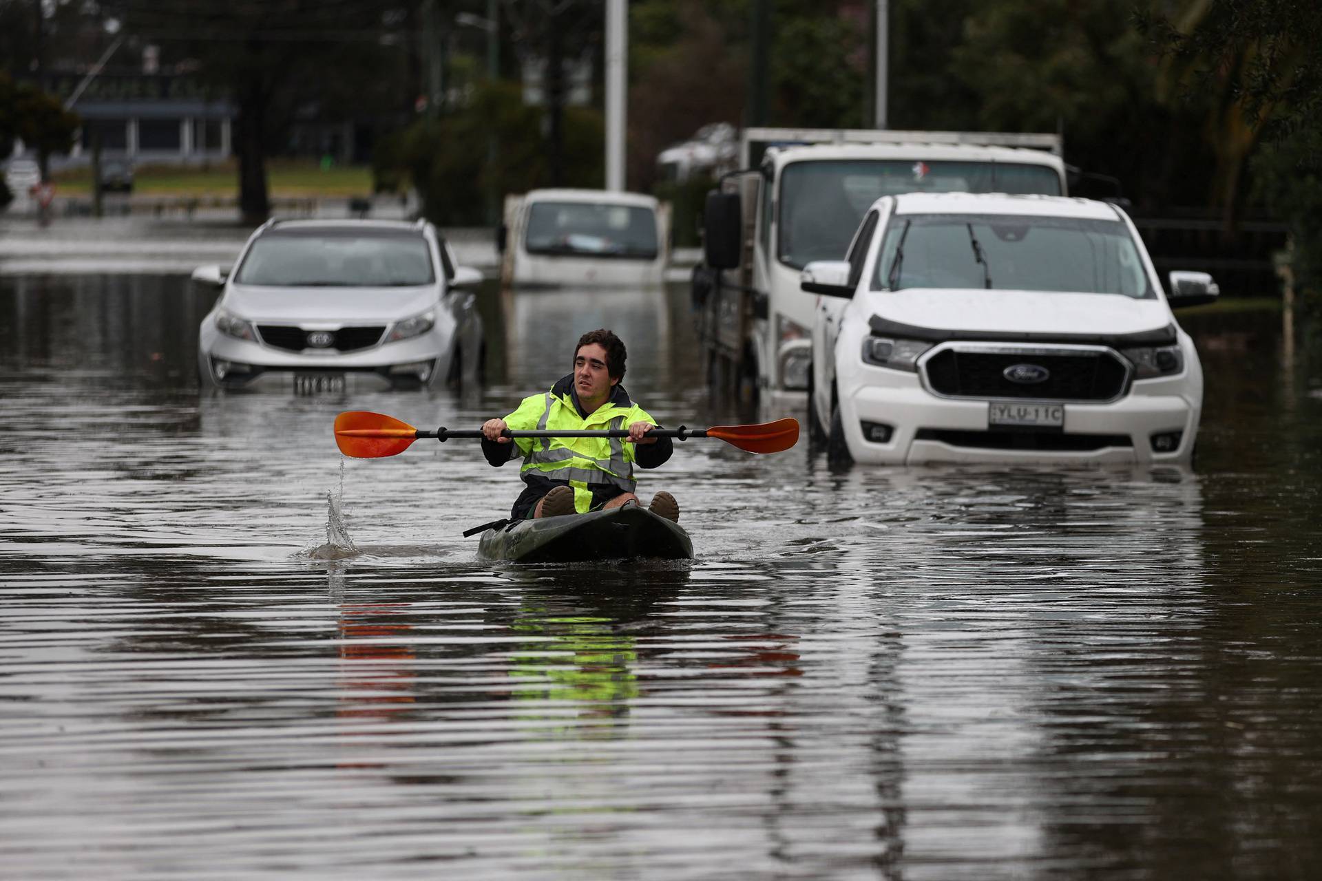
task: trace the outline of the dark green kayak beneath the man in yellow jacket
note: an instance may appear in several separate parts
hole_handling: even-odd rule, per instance
[[[481,534],[477,553],[488,560],[582,563],[657,557],[693,559],[683,528],[639,505],[608,511],[517,520]]]

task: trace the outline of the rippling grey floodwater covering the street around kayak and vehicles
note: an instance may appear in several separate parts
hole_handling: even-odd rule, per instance
[[[200,399],[186,279],[0,277],[0,877],[1314,877],[1322,378],[1278,318],[1187,322],[1192,472],[694,440],[640,487],[691,564],[517,567],[460,538],[514,466],[342,460],[334,415],[473,427],[605,324],[662,423],[738,416],[682,288],[481,304],[483,388]]]

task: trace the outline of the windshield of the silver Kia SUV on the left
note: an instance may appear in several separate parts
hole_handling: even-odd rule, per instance
[[[418,232],[272,230],[249,248],[235,284],[397,288],[435,280],[431,250]]]

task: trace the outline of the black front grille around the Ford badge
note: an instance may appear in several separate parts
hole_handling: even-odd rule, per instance
[[[1006,370],[1031,365],[1044,370],[1040,382],[1021,383]],[[928,386],[949,398],[1031,398],[1040,400],[1114,400],[1129,384],[1129,365],[1105,349],[941,349],[923,370]]]

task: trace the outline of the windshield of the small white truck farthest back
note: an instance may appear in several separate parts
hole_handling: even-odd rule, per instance
[[[650,260],[657,255],[656,213],[641,205],[534,202],[524,244],[529,254]]]

